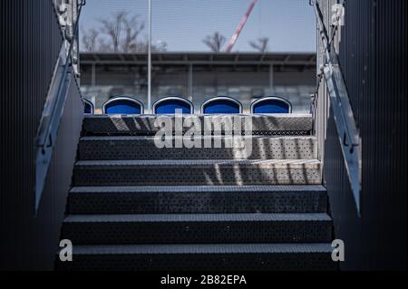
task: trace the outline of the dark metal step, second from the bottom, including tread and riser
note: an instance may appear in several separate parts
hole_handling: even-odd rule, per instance
[[[72,215],[63,239],[76,245],[325,243],[325,214]]]

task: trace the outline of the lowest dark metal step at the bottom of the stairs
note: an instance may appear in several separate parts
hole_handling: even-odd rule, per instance
[[[73,261],[56,266],[72,271],[335,270],[332,250],[330,244],[73,246]]]

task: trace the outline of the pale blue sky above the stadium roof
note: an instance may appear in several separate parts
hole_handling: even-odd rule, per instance
[[[218,31],[229,42],[250,0],[152,0],[152,43],[170,52],[208,52],[202,40]],[[82,30],[99,29],[100,19],[118,11],[148,20],[147,0],[87,0]],[[144,29],[141,39],[147,38]],[[268,52],[316,52],[316,19],[308,0],[259,0],[234,52],[254,52],[249,41],[268,37]],[[224,49],[227,47],[225,44]]]

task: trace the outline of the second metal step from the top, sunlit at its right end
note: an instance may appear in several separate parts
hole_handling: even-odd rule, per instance
[[[83,137],[79,144],[81,160],[112,159],[317,159],[315,137],[245,137],[246,147],[232,145],[225,136],[195,137],[197,146],[176,148],[182,137],[170,137],[170,148],[158,148],[155,137]],[[190,139],[189,139],[190,140]],[[209,143],[218,148],[205,148]],[[212,144],[212,145],[211,145]],[[245,150],[247,149],[247,150]],[[248,152],[248,153],[247,153]]]

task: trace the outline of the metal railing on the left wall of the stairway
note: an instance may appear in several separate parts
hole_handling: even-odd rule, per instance
[[[36,137],[36,161],[35,161],[35,213],[38,210],[41,196],[43,194],[45,179],[53,156],[53,147],[57,138],[61,118],[63,116],[64,104],[70,90],[73,72],[73,48],[78,39],[79,20],[85,0],[75,1],[77,15],[73,24],[73,34],[65,37],[70,40],[69,48],[66,49],[65,41],[61,50],[55,69],[53,79],[48,90],[44,104],[43,115],[40,120]],[[66,33],[65,33],[66,34]],[[76,75],[75,75],[76,77]],[[76,82],[76,79],[75,79]]]

